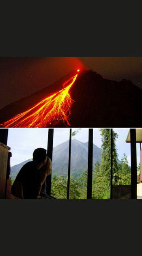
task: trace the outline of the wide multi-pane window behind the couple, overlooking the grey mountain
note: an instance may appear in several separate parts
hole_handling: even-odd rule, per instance
[[[111,177],[113,196],[115,194],[121,197],[117,192],[124,187],[126,190],[130,189],[131,150],[130,143],[126,143],[129,129],[54,128],[52,130],[54,132],[53,145],[51,145],[53,146],[51,195],[60,199],[86,199],[88,182],[91,181],[90,197],[108,199],[111,196]],[[93,137],[90,139],[93,142],[91,158],[91,150],[88,151],[89,130],[93,132]],[[112,176],[110,130],[113,130],[114,139]],[[11,178],[15,179],[21,167],[27,161],[32,161],[35,148],[47,149],[48,131],[47,128],[9,128],[7,145],[12,152]],[[90,168],[88,159],[93,164],[92,171],[89,170],[90,176],[88,176],[88,168]],[[140,143],[137,143],[137,171],[139,169]]]

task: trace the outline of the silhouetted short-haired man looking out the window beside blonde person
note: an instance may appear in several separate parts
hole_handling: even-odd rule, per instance
[[[21,199],[38,199],[42,184],[47,177],[47,173],[41,168],[46,161],[46,150],[44,148],[35,149],[32,161],[26,163],[17,174],[11,194]]]

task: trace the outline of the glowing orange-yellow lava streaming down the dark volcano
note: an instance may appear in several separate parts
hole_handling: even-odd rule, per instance
[[[79,71],[78,69],[77,72]],[[4,122],[3,127],[48,127],[53,121],[58,122],[60,120],[66,126],[70,126],[69,115],[71,114],[73,99],[71,99],[69,89],[74,84],[77,75],[65,81],[62,89],[57,93],[45,98],[28,111],[15,115],[10,120]]]

